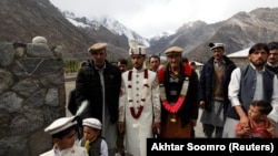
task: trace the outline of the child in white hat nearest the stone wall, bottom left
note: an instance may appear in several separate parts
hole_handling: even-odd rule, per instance
[[[77,122],[75,117],[61,117],[50,124],[44,132],[52,135],[53,148],[40,156],[88,156],[83,147],[75,146]]]

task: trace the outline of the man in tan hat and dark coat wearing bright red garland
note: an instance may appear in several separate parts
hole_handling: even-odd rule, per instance
[[[182,63],[182,51],[167,49],[167,65],[158,71],[162,138],[190,138],[198,118],[198,76],[188,62]]]

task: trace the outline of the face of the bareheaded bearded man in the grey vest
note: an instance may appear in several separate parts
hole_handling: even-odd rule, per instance
[[[264,49],[260,49],[249,54],[248,58],[256,67],[262,67],[267,62],[268,53]]]

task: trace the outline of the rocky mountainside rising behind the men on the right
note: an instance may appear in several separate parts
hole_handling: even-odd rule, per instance
[[[256,42],[278,41],[277,13],[278,8],[259,8],[214,24],[187,23],[169,38],[151,41],[150,50],[151,53],[162,53],[170,45],[179,45],[189,60],[206,62],[211,56],[209,42],[226,43],[226,54],[229,54]]]

